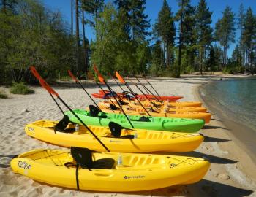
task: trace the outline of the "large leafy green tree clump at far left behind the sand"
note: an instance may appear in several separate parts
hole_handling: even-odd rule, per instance
[[[6,79],[29,82],[29,66],[56,77],[73,65],[74,39],[60,12],[52,12],[40,1],[20,0],[13,12],[0,11],[0,65]]]

